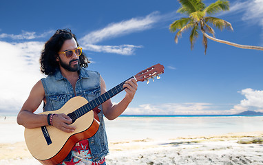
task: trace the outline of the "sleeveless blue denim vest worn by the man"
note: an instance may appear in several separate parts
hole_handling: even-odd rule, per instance
[[[87,71],[81,68],[78,80],[76,82],[76,96],[82,96],[87,101],[94,100],[101,95],[101,76],[98,72]],[[64,78],[59,69],[52,75],[42,78],[41,82],[45,89],[46,104],[43,111],[54,111],[61,109],[63,105],[74,97],[74,89],[70,82]],[[105,124],[103,120],[103,109],[100,105],[101,112],[98,113],[100,119],[100,126],[96,134],[90,137],[89,145],[92,152],[92,159],[94,162],[101,160],[109,153],[107,144],[107,135],[105,131]]]

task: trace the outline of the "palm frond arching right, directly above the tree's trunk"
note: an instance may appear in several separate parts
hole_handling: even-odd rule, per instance
[[[212,23],[212,25],[220,30],[227,28],[228,30],[233,30],[231,23],[224,21],[224,19],[218,19],[215,17],[205,17],[205,22]]]

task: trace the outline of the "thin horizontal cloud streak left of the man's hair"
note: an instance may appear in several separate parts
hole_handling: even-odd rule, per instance
[[[6,34],[6,33],[2,33],[0,34],[0,39],[4,39],[4,38],[10,38],[10,39],[14,39],[14,40],[23,40],[23,39],[39,39],[39,38],[43,38],[45,36],[48,36],[50,34],[53,34],[54,30],[50,30],[48,32],[44,32],[42,34],[36,35],[36,32],[26,32],[22,30],[21,34]]]

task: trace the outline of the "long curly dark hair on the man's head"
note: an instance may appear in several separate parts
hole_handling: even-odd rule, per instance
[[[44,50],[41,52],[41,57],[39,63],[41,65],[41,72],[45,75],[54,74],[56,69],[59,68],[59,62],[56,61],[56,57],[59,56],[58,52],[61,50],[63,43],[74,38],[76,41],[76,36],[71,32],[70,29],[56,30],[56,33],[45,43]],[[76,41],[77,46],[78,41]],[[88,61],[85,54],[82,52],[79,56],[80,66],[87,67]]]

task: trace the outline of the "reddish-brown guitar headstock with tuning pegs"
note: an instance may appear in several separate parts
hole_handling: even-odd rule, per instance
[[[147,80],[147,84],[149,83],[149,79],[154,77],[157,77],[157,79],[160,79],[160,74],[163,74],[165,72],[165,67],[160,64],[156,64],[154,66],[148,67],[147,69],[139,72],[134,77],[137,81],[145,81]]]

